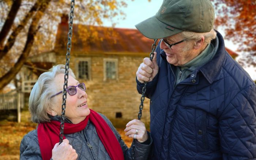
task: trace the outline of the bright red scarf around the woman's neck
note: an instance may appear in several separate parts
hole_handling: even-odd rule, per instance
[[[83,130],[86,127],[88,120],[90,120],[94,124],[99,139],[104,145],[110,158],[112,160],[124,160],[123,151],[113,131],[97,112],[91,109],[90,111],[91,113],[79,124],[65,123],[64,134],[76,133]],[[37,135],[43,160],[49,160],[52,157],[52,149],[54,145],[60,141],[59,134],[59,121],[38,124]],[[63,136],[63,139],[65,139],[65,136]],[[84,143],[86,142],[84,141]]]

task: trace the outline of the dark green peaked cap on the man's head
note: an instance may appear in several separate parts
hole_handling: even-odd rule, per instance
[[[135,27],[147,38],[160,39],[182,31],[210,32],[214,8],[210,0],[163,0],[159,11]]]

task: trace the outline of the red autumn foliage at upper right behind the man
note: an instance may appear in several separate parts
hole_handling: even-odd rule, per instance
[[[256,1],[211,0],[217,17],[215,28],[225,28],[225,38],[239,45],[245,65],[256,66]]]

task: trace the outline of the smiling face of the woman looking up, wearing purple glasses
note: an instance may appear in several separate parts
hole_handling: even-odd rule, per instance
[[[54,78],[53,82],[54,86],[56,87],[56,93],[63,90],[64,74],[58,74]],[[68,77],[68,87],[76,86],[78,84],[79,82],[72,76]],[[62,96],[63,94],[59,94],[53,97],[53,101],[56,103],[54,104],[54,110],[59,116],[61,115]],[[87,94],[85,91],[81,90],[79,87],[76,87],[75,95],[69,95],[67,93],[65,117],[71,120],[72,123],[78,124],[79,122],[83,121],[89,114],[90,110],[87,105]]]

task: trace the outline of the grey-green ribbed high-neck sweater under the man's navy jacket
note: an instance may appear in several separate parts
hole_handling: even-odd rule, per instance
[[[214,43],[215,42],[215,43]],[[207,62],[211,61],[211,59],[216,54],[216,51],[218,49],[219,40],[218,37],[214,41],[212,41],[210,44],[207,45],[207,47],[194,59],[191,61],[185,63],[182,66],[176,66],[176,83],[175,86],[183,81],[184,79],[188,78],[188,76],[197,68],[200,66],[203,66]]]

